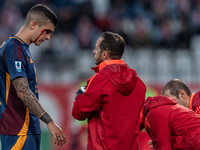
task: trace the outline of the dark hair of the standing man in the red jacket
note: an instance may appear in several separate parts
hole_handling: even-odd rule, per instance
[[[122,36],[112,32],[103,32],[100,43],[101,53],[107,51],[111,59],[120,59],[124,53],[125,41]]]

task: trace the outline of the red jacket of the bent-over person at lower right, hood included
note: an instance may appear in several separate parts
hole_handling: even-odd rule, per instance
[[[148,97],[143,109],[145,129],[155,149],[200,149],[200,116],[166,96]]]

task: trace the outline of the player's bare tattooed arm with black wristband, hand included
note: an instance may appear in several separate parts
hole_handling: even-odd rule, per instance
[[[54,137],[54,142],[58,146],[66,144],[66,136],[62,129],[52,120],[48,113],[40,105],[34,93],[29,89],[27,78],[18,77],[12,81],[18,97],[24,105],[38,118],[47,124],[47,127]]]

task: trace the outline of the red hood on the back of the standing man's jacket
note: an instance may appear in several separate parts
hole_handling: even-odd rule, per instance
[[[100,73],[104,74],[124,95],[129,95],[137,83],[136,71],[127,64],[107,65]]]

